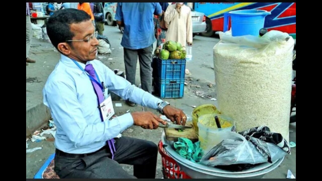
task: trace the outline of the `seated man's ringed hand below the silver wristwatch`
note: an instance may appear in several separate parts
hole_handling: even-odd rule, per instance
[[[179,125],[185,125],[187,117],[185,116],[185,113],[182,110],[167,105],[163,108],[162,111],[164,115],[166,115],[166,117],[169,118],[172,122],[176,122],[176,124]]]

